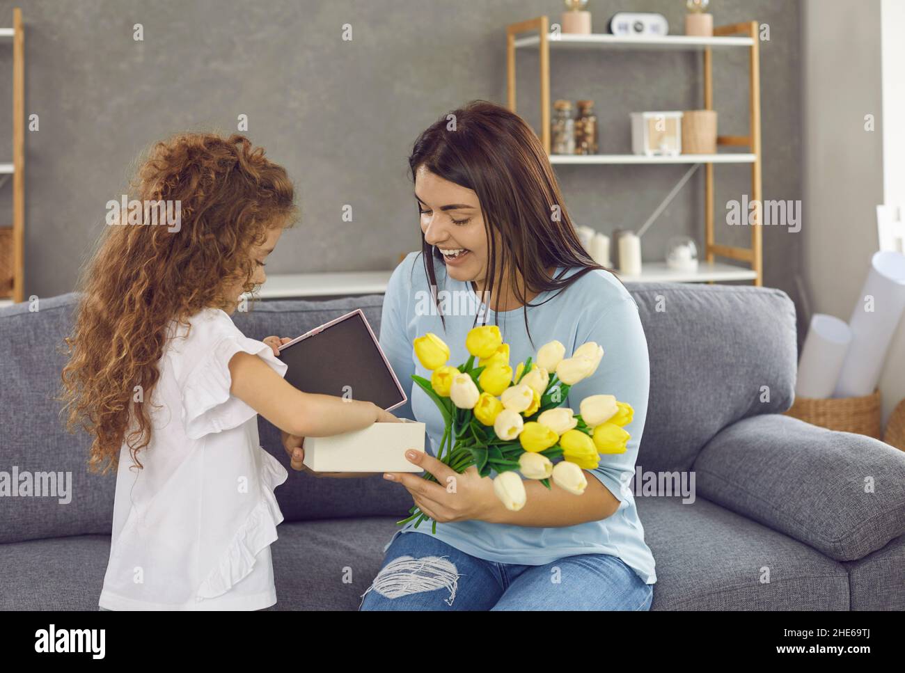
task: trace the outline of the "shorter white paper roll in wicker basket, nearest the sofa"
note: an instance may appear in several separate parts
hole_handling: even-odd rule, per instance
[[[821,400],[832,397],[851,343],[852,330],[843,320],[815,313],[798,361],[795,395]]]

